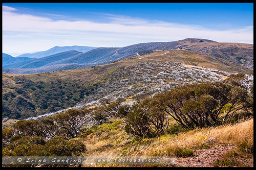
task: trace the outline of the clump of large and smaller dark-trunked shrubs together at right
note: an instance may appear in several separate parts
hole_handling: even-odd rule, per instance
[[[168,128],[168,116],[185,129],[221,125],[237,111],[250,109],[251,101],[240,86],[187,84],[134,105],[126,115],[125,131],[138,137],[154,136]]]

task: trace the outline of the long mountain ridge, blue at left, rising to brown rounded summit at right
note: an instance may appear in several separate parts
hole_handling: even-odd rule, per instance
[[[52,52],[56,48],[57,47],[51,48]],[[220,43],[207,39],[187,38],[171,42],[139,43],[125,47],[99,47],[84,53],[81,53],[81,50],[71,50],[25,62],[3,65],[3,71],[11,74],[31,74],[83,68],[106,64],[126,58],[138,57],[153,53],[157,50],[176,50],[185,48],[186,50],[201,52],[201,54],[212,56],[209,60],[214,62],[217,61],[226,64],[227,66],[245,66],[247,72],[253,70],[252,44]],[[46,54],[45,52],[34,54],[42,53]]]

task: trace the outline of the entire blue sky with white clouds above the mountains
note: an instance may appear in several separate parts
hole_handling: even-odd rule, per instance
[[[252,3],[3,3],[3,52],[206,38],[253,43]]]

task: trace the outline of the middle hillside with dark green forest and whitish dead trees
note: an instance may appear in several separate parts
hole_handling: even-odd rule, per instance
[[[41,74],[11,75],[3,72],[3,116],[23,119],[101,98],[141,98],[189,82],[217,81],[227,76],[225,71],[233,69],[207,58],[202,60],[197,52],[167,52]],[[199,67],[203,65],[213,69]]]

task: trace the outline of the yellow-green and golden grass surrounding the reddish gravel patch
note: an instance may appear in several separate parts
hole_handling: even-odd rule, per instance
[[[253,118],[212,128],[177,131],[176,133],[166,132],[154,138],[135,138],[127,135],[121,119],[112,118],[111,122],[98,126],[92,133],[81,136],[78,140],[82,140],[88,149],[83,156],[103,157],[189,157],[193,156],[194,150],[197,149],[208,149],[219,144],[232,144],[233,149],[217,159],[214,165],[246,167],[252,165]]]

